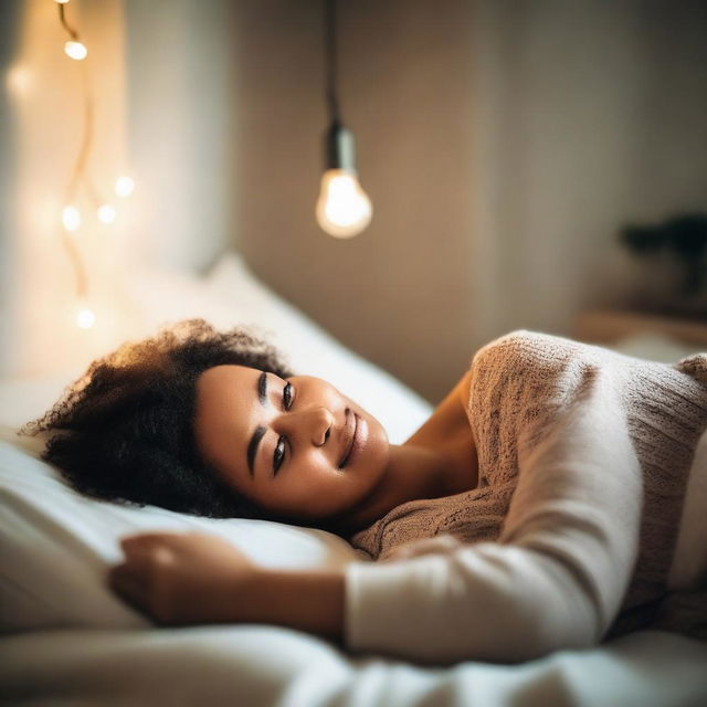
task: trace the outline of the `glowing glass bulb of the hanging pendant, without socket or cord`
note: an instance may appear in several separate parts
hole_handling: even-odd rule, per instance
[[[316,213],[324,231],[348,239],[370,223],[373,211],[354,170],[328,169],[321,177]]]

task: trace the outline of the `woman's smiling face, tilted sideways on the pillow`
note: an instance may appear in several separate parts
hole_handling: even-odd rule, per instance
[[[346,514],[388,464],[381,424],[309,376],[207,369],[197,379],[194,434],[229,485],[264,510],[297,520]]]

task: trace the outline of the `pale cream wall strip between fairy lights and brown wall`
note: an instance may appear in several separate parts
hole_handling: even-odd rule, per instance
[[[232,244],[233,0],[123,0],[130,152],[139,178],[134,255],[203,271]]]

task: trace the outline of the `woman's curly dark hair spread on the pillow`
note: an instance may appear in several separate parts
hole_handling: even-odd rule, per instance
[[[42,458],[94,498],[284,520],[228,486],[197,450],[196,381],[224,363],[292,376],[275,348],[246,329],[218,331],[204,319],[184,319],[95,360],[20,434],[49,432]]]

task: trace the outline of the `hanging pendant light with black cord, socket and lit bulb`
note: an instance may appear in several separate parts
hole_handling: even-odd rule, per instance
[[[325,172],[317,200],[317,222],[340,239],[359,234],[372,215],[371,202],[356,171],[354,134],[344,127],[336,93],[336,0],[325,0],[325,45],[329,127],[325,135]]]

